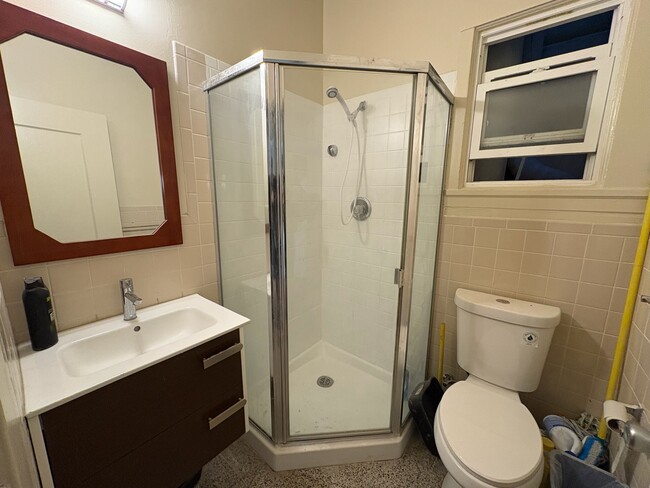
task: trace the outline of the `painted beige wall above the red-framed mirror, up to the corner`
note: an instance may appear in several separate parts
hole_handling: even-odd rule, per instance
[[[124,16],[87,0],[9,3],[168,63],[171,40],[229,64],[260,49],[322,51],[321,0],[137,0]]]

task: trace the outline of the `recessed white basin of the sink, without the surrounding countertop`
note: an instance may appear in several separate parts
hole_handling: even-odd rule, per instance
[[[70,376],[92,374],[206,329],[215,318],[196,308],[170,310],[148,319],[124,322],[110,332],[80,339],[59,349]]]

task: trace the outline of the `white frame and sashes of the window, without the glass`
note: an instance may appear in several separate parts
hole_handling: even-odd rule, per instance
[[[603,147],[603,133],[608,131],[612,116],[612,93],[617,90],[617,79],[613,76],[616,55],[622,51],[623,36],[627,22],[621,22],[629,13],[632,0],[576,0],[574,2],[561,2],[554,8],[538,8],[534,13],[522,12],[513,16],[509,22],[499,21],[487,26],[479,32],[477,45],[479,54],[476,61],[478,79],[475,82],[475,99],[470,122],[470,137],[468,144],[468,159],[466,172],[466,185],[468,186],[510,186],[521,184],[548,185],[553,182],[564,186],[566,184],[584,185],[593,183],[601,173],[600,166],[603,158],[597,158],[600,139]],[[609,42],[605,45],[562,54],[530,63],[522,63],[499,70],[485,71],[487,49],[491,44],[508,39],[531,34],[540,30],[564,24],[599,13],[614,10]],[[568,64],[567,64],[568,63]],[[561,66],[565,64],[565,66]],[[560,67],[556,67],[560,65]],[[485,93],[508,86],[532,83],[541,79],[554,79],[560,76],[569,76],[571,69],[583,72],[597,71],[596,81],[593,85],[590,115],[586,118],[587,133],[585,141],[581,143],[560,143],[538,146],[513,146],[511,148],[480,149],[480,136],[483,123],[484,95]],[[585,69],[587,68],[587,69]],[[560,70],[563,71],[560,71]],[[576,71],[577,72],[577,71]],[[545,77],[546,76],[546,77]],[[510,81],[508,81],[510,80]],[[500,84],[497,84],[500,83]],[[557,134],[556,134],[557,135]],[[594,142],[595,141],[595,142]],[[576,145],[581,145],[579,149]],[[590,148],[587,150],[586,148]],[[477,152],[479,152],[477,157]],[[602,151],[604,152],[604,151]],[[474,162],[484,158],[521,157],[533,155],[587,153],[587,164],[582,180],[535,180],[535,181],[478,181],[474,182]]]

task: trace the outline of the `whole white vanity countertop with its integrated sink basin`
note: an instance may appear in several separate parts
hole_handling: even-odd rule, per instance
[[[44,351],[18,348],[28,417],[227,334],[248,319],[199,295],[66,330]]]

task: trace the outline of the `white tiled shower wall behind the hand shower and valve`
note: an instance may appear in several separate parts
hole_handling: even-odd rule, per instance
[[[324,108],[323,126],[323,338],[375,366],[392,371],[395,348],[408,129],[412,85],[351,98],[368,108],[366,184],[361,194],[372,203],[363,222],[341,223],[340,186],[352,137],[351,125],[338,103]],[[361,132],[363,139],[363,132]],[[333,158],[325,149],[339,147]],[[356,144],[356,142],[355,142]],[[358,162],[352,149],[343,206],[354,199]]]

